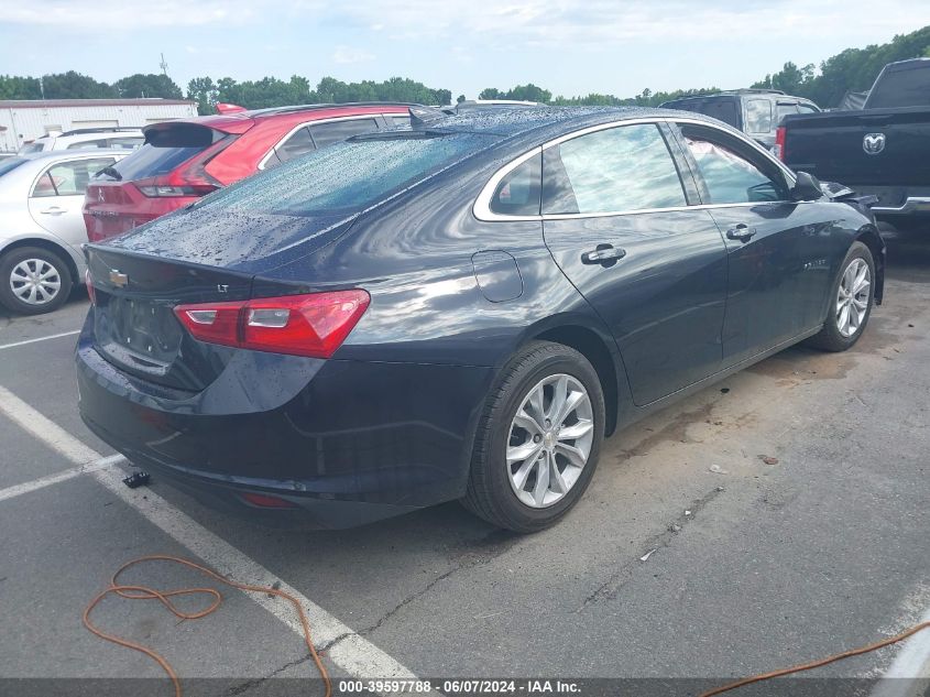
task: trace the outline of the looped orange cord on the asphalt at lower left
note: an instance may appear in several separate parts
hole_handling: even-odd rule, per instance
[[[314,642],[310,638],[309,620],[307,620],[307,616],[304,612],[304,608],[300,607],[300,603],[294,596],[286,593],[283,590],[278,590],[277,588],[239,584],[237,581],[223,578],[216,571],[208,569],[205,566],[200,566],[199,564],[195,564],[194,562],[188,562],[187,559],[182,559],[174,556],[151,555],[139,557],[138,559],[127,562],[119,569],[117,569],[117,573],[113,574],[113,578],[110,580],[110,585],[105,590],[102,590],[96,598],[94,598],[94,600],[90,601],[90,605],[88,605],[87,609],[84,611],[84,625],[91,632],[97,634],[97,636],[99,636],[100,639],[113,642],[114,644],[119,644],[120,646],[125,646],[127,649],[132,649],[133,651],[139,651],[155,661],[160,666],[162,666],[162,669],[164,669],[164,672],[167,673],[168,677],[172,679],[172,683],[174,684],[175,697],[182,697],[180,680],[178,680],[177,678],[177,673],[174,672],[174,668],[167,661],[165,661],[165,658],[161,654],[156,653],[152,649],[149,649],[147,646],[143,646],[142,644],[136,644],[135,642],[129,641],[128,639],[122,639],[120,636],[103,632],[90,622],[90,613],[103,598],[106,598],[110,593],[116,593],[121,598],[129,598],[130,600],[157,599],[176,617],[183,620],[199,620],[200,618],[207,617],[211,612],[215,612],[220,607],[220,603],[222,603],[222,595],[216,588],[178,588],[175,590],[161,591],[155,590],[154,588],[149,588],[146,586],[128,586],[119,582],[119,577],[123,571],[125,571],[131,566],[135,566],[136,564],[142,564],[144,562],[173,562],[175,564],[180,564],[183,566],[196,569],[201,574],[206,574],[210,578],[216,579],[219,582],[230,586],[232,588],[238,588],[239,590],[249,590],[252,592],[270,593],[272,596],[277,596],[278,598],[284,598],[285,600],[289,601],[291,605],[294,606],[294,609],[297,610],[297,614],[300,617],[300,624],[304,628],[304,641],[306,642],[307,650],[310,652],[310,657],[313,657],[314,663],[316,663],[320,677],[322,677],[322,682],[326,685],[326,697],[331,697],[332,683],[329,679],[329,674],[326,672],[326,666],[322,664],[322,661],[320,661],[320,657],[317,654],[316,649],[314,647]],[[174,596],[193,596],[195,593],[207,593],[209,596],[212,596],[214,601],[206,610],[200,610],[199,612],[182,612],[175,607],[175,605],[171,600],[168,600],[168,598],[172,598]]]

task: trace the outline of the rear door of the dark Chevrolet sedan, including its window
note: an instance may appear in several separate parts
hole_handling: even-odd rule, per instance
[[[616,124],[545,148],[543,226],[558,265],[610,327],[633,400],[647,404],[722,360],[726,251],[689,209],[656,123]]]

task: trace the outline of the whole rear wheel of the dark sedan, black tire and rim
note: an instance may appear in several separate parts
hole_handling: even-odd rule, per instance
[[[561,344],[530,342],[511,358],[489,394],[462,503],[514,532],[554,524],[591,481],[604,413],[600,379],[584,356]],[[528,457],[517,457],[524,453]]]

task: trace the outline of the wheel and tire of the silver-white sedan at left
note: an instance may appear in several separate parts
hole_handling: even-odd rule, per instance
[[[0,303],[14,313],[51,313],[65,304],[73,285],[65,260],[42,247],[19,247],[0,257]]]

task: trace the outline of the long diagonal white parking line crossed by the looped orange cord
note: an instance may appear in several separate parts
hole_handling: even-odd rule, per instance
[[[0,413],[6,414],[24,431],[54,448],[75,464],[100,460],[100,455],[66,433],[61,426],[40,414],[15,394],[0,388]],[[175,541],[187,547],[217,573],[243,584],[272,586],[280,579],[254,559],[217,536],[186,513],[171,505],[151,489],[129,489],[122,483],[122,472],[116,468],[98,468],[90,472],[111,493],[134,508]],[[25,486],[25,484],[20,484]],[[314,642],[322,646],[342,636],[328,651],[329,660],[353,677],[415,679],[414,674],[357,634],[348,625],[304,597],[298,590],[281,584],[281,590],[294,596],[304,607],[314,633]],[[247,593],[294,632],[303,636],[300,623],[286,606],[263,593]]]

